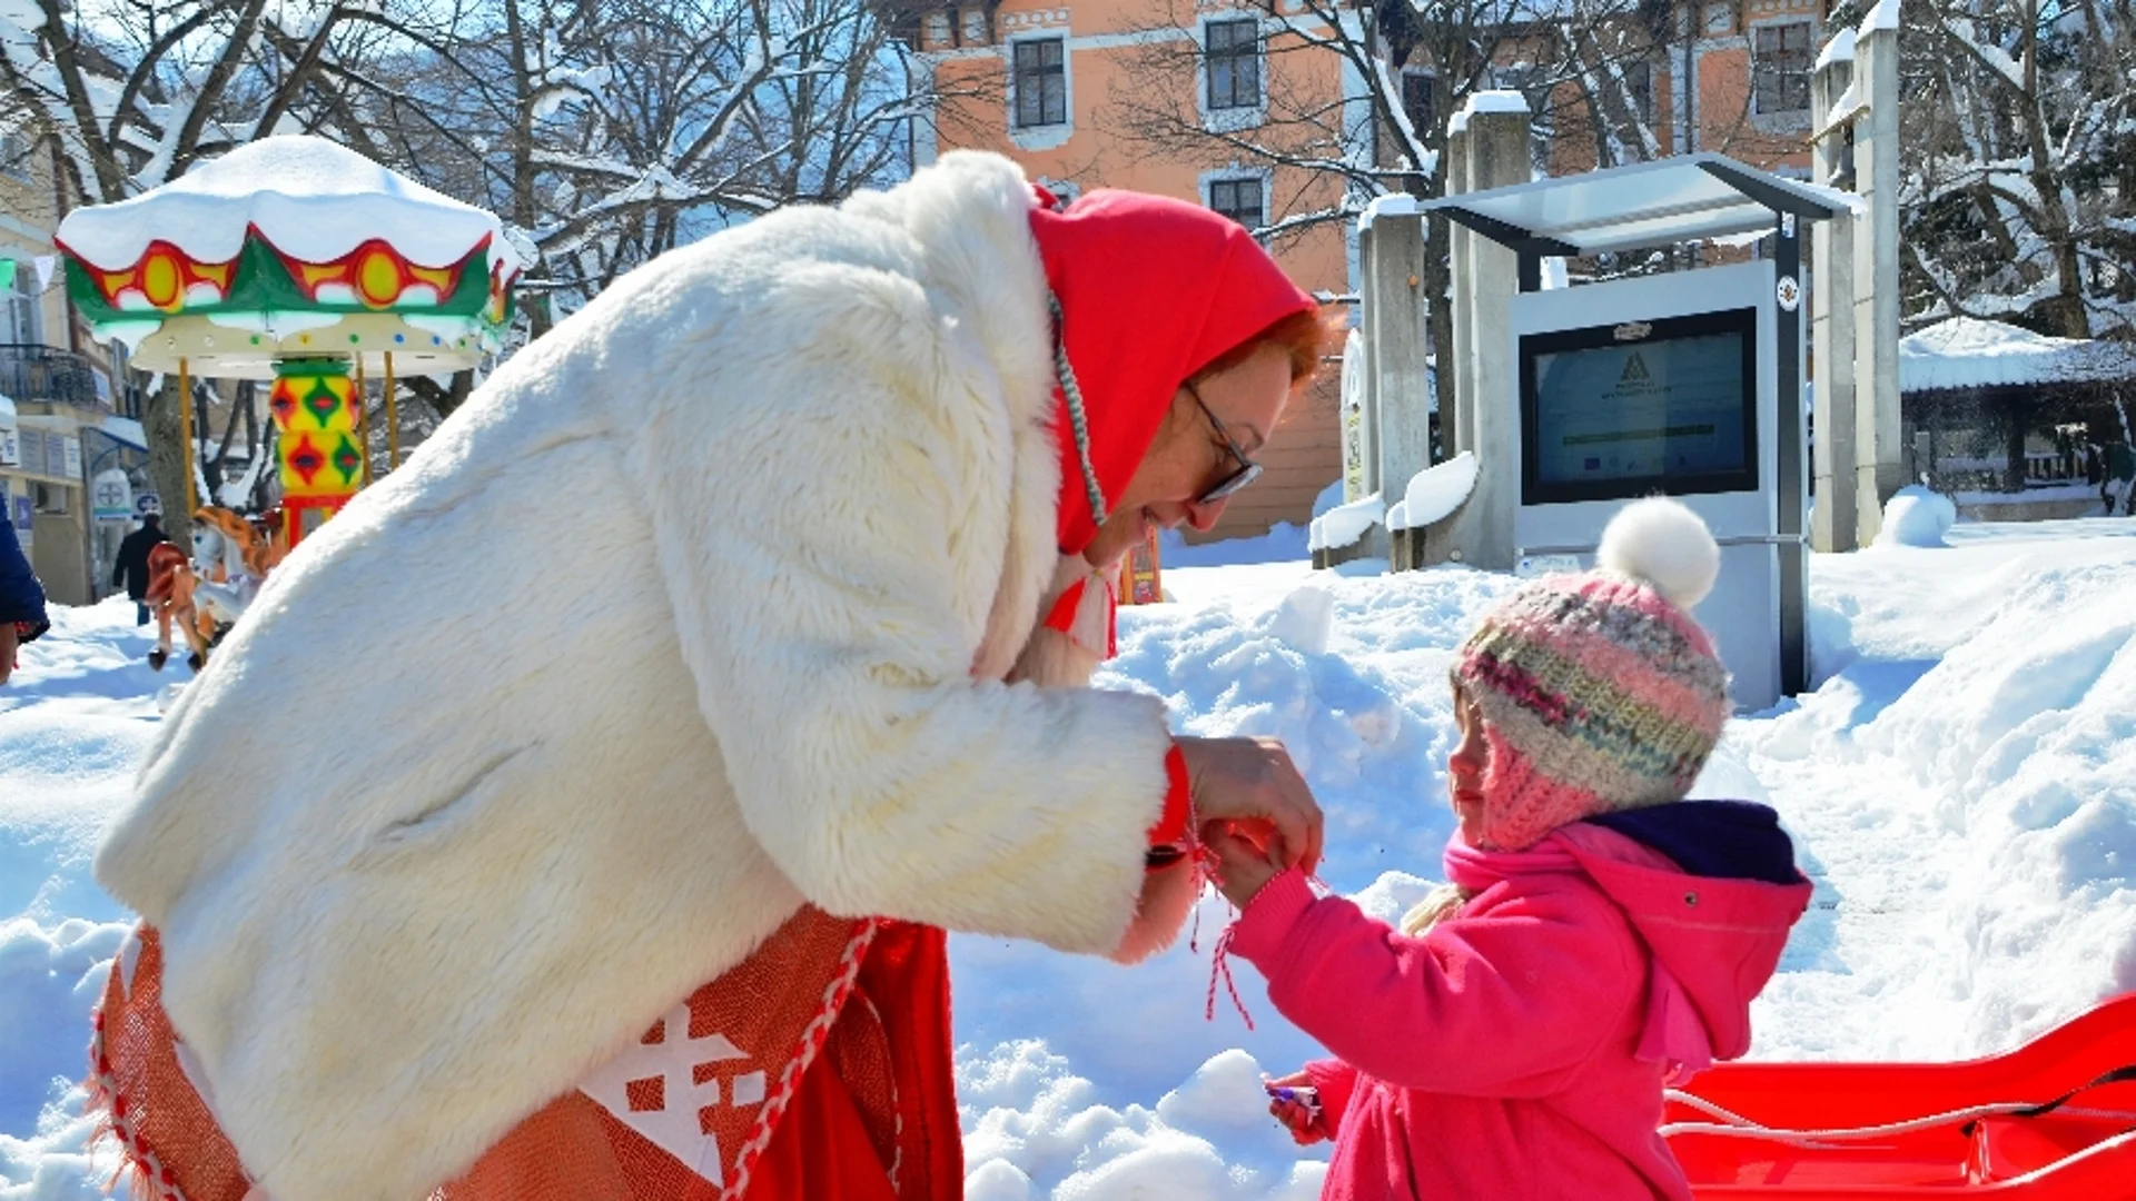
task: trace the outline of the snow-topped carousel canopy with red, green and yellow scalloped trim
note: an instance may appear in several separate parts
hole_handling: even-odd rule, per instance
[[[310,135],[267,137],[60,222],[66,284],[145,370],[271,378],[276,359],[472,365],[521,263],[496,216]]]

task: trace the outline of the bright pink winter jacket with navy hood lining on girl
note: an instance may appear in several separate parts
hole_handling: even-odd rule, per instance
[[[1602,821],[1485,855],[1420,938],[1297,872],[1241,915],[1230,953],[1337,1056],[1307,1064],[1335,1133],[1322,1201],[1690,1199],[1655,1133],[1664,1075],[1749,1049],[1809,883],[1764,806]]]

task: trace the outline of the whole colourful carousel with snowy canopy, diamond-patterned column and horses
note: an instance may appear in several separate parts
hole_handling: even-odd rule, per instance
[[[399,466],[395,378],[498,353],[521,269],[493,214],[310,135],[261,139],[128,201],[75,209],[58,244],[96,338],[177,378],[192,556],[152,562],[158,669],[173,620],[199,669],[267,571],[374,479],[380,421],[376,474]],[[265,511],[201,496],[194,378],[269,383],[280,500]],[[374,383],[380,406],[367,400]]]

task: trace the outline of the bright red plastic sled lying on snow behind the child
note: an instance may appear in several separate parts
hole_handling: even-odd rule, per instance
[[[2136,994],[1957,1064],[1722,1064],[1662,1133],[1698,1201],[2136,1197]]]

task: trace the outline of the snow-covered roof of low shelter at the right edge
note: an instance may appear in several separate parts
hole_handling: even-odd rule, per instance
[[[2136,348],[1952,316],[1899,340],[1899,391],[2136,380]]]

